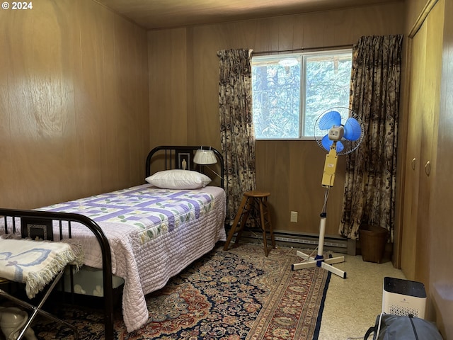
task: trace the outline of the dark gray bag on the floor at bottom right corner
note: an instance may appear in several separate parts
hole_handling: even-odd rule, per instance
[[[372,333],[372,340],[442,340],[433,322],[412,315],[379,314],[363,339],[367,340]]]

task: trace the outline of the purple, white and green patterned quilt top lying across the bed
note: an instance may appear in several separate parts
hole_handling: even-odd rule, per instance
[[[76,212],[96,222],[137,228],[140,244],[197,220],[213,208],[214,196],[204,191],[134,187],[50,205],[38,210]]]

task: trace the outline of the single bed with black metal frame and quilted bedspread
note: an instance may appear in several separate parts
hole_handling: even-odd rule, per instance
[[[105,338],[114,334],[113,274],[125,282],[122,314],[127,331],[139,329],[149,318],[145,295],[226,240],[223,159],[216,149],[210,148],[217,157],[219,186],[178,190],[172,181],[171,188],[157,182],[158,188],[151,178],[151,166],[161,169],[157,174],[183,171],[192,176],[196,171],[205,176],[205,166],[193,163],[197,149],[202,147],[152,149],[145,164],[151,183],[37,210],[0,209],[0,233],[76,239],[84,249],[84,265],[102,268]]]

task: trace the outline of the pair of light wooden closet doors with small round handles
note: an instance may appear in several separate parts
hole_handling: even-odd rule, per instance
[[[404,190],[401,269],[429,285],[430,188],[435,176],[443,1],[430,11],[411,42],[408,146]]]

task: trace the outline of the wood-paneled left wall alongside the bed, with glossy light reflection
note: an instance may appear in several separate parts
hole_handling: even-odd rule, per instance
[[[144,182],[147,33],[91,0],[0,11],[0,206]]]

